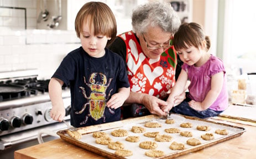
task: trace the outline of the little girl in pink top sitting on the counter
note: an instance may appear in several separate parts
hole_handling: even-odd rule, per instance
[[[163,111],[207,118],[217,116],[228,107],[226,70],[220,58],[208,53],[210,39],[200,25],[184,23],[174,35],[173,45],[184,64]],[[189,92],[180,105],[174,107],[174,97],[190,80]]]

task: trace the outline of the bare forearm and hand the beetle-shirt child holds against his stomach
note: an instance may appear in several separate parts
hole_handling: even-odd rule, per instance
[[[118,89],[116,94],[113,94],[110,100],[107,102],[107,107],[110,108],[119,108],[123,105],[124,101],[129,97],[130,87],[122,87]]]

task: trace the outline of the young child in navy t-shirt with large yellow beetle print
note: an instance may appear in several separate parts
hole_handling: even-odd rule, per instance
[[[77,13],[75,30],[82,46],[67,54],[50,80],[50,116],[63,120],[61,87],[70,85],[71,125],[85,127],[120,120],[120,107],[130,89],[123,59],[105,48],[117,34],[111,9],[102,2],[86,3]]]

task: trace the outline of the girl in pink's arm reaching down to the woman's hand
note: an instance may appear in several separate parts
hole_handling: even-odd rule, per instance
[[[164,112],[169,112],[170,109],[173,108],[175,104],[174,103],[175,96],[178,96],[182,94],[182,92],[184,92],[186,83],[187,83],[187,73],[185,72],[185,70],[182,69],[180,72],[179,78],[177,79],[174,87],[171,89],[171,93],[166,101],[168,105],[161,108]]]

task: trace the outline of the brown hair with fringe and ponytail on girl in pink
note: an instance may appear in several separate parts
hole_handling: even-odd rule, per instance
[[[182,23],[179,30],[174,34],[173,45],[176,50],[187,48],[187,46],[202,46],[202,41],[206,41],[207,50],[211,47],[211,41],[205,36],[203,29],[197,23]]]

